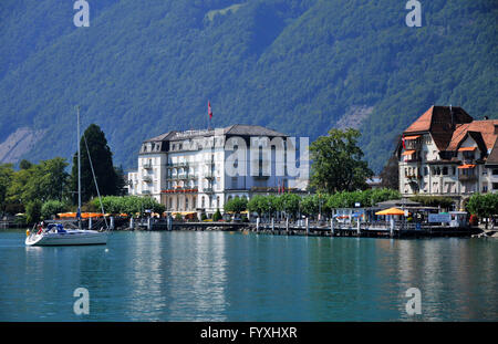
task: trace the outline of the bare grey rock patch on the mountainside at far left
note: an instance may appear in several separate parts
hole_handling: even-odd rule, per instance
[[[45,133],[46,131],[33,131],[28,127],[18,128],[0,144],[0,164],[18,163]]]

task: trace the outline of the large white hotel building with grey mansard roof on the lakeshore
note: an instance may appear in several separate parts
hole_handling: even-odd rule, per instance
[[[250,199],[257,194],[277,194],[281,186],[287,190],[303,190],[308,185],[307,176],[304,179],[291,177],[287,168],[283,174],[277,174],[280,160],[276,159],[274,147],[269,149],[270,159],[263,159],[262,149],[258,149],[256,165],[259,169],[256,173],[251,169],[249,148],[255,138],[271,142],[281,138],[284,152],[288,150],[286,134],[253,125],[168,132],[146,139],[138,153],[138,170],[128,173],[128,194],[154,197],[166,206],[167,212],[209,215],[217,209],[222,211],[225,202],[234,197]],[[227,140],[230,145],[226,146]],[[234,161],[234,152],[241,147],[247,150]],[[292,154],[295,157],[295,153]],[[229,161],[236,168],[242,164],[246,173],[241,176],[227,173]],[[302,164],[301,168],[309,166]]]

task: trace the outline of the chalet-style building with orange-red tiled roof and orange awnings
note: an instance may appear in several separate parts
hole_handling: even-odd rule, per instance
[[[461,208],[475,192],[498,191],[498,119],[475,121],[461,107],[432,106],[396,148],[400,191],[447,196]]]

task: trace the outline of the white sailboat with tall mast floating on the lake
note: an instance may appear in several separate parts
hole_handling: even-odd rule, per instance
[[[86,144],[86,139],[85,139]],[[86,149],[89,147],[86,146]],[[89,150],[87,150],[89,152]],[[98,199],[101,195],[98,192],[98,186],[96,185],[95,174],[93,171],[92,159],[89,159],[92,167],[92,174],[94,177],[95,186],[97,188]],[[102,201],[101,201],[102,207]],[[102,212],[103,209],[102,209]],[[80,149],[80,107],[77,107],[77,229],[64,228],[62,223],[50,223],[45,228],[39,227],[38,231],[27,231],[25,244],[27,246],[69,246],[69,244],[106,244],[108,228],[105,231],[97,230],[83,230],[81,227],[81,149]],[[107,225],[107,223],[106,223]]]

